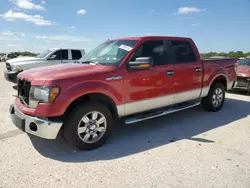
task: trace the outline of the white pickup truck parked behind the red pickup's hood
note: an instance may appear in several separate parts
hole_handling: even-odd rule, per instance
[[[6,80],[16,83],[17,75],[35,67],[56,65],[60,63],[74,63],[85,55],[84,49],[51,48],[36,57],[20,57],[6,61]]]

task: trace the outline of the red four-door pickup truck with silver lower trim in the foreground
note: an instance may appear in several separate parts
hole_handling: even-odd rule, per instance
[[[130,124],[199,104],[220,110],[235,63],[202,60],[189,38],[108,40],[80,62],[20,73],[10,115],[29,134],[56,139],[62,130],[69,144],[89,150],[105,143],[116,118]]]

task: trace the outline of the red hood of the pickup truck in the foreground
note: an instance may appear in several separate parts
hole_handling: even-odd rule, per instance
[[[113,70],[113,66],[89,65],[89,64],[58,64],[46,67],[37,67],[18,74],[18,78],[28,81],[43,83],[48,80],[63,80],[69,78],[93,75],[99,72]]]

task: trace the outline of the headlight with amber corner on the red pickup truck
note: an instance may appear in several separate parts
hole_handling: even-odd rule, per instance
[[[60,93],[59,87],[31,86],[29,106],[36,108],[39,103],[52,103]]]

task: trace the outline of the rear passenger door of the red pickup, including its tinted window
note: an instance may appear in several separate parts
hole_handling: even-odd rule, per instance
[[[187,40],[168,41],[173,58],[174,103],[198,99],[202,89],[202,62]]]

